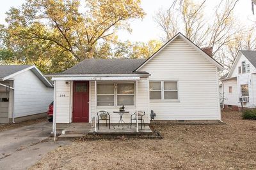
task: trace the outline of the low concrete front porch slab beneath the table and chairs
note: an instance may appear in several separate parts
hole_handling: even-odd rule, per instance
[[[72,123],[67,128],[61,131],[61,135],[58,136],[58,140],[67,139],[115,139],[115,138],[158,138],[156,134],[150,129],[148,124],[145,124],[142,129],[137,132],[136,124],[132,124],[132,127],[128,127],[125,124],[124,129],[122,126],[115,127],[115,124],[106,126],[106,124],[100,124],[99,129],[95,131],[95,127],[92,127],[89,123]]]

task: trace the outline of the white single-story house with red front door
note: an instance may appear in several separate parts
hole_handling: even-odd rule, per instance
[[[157,114],[155,120],[221,120],[218,71],[223,67],[181,33],[146,59],[85,59],[53,74],[56,123],[91,122],[106,110],[111,122],[125,110]],[[124,115],[130,122],[130,115]]]

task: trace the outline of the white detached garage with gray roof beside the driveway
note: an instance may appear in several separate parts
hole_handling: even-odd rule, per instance
[[[0,123],[46,117],[52,84],[35,66],[0,66]]]

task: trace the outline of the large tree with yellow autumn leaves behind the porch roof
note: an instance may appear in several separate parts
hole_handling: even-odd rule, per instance
[[[63,71],[83,59],[108,56],[116,31],[131,31],[127,21],[144,14],[140,0],[27,0],[7,12],[3,46],[15,62]]]

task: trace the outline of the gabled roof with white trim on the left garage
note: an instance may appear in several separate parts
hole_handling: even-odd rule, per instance
[[[31,65],[0,65],[0,80],[8,80],[17,76],[24,71],[31,70],[47,87],[52,87],[52,84],[44,77],[41,71],[36,66]]]

